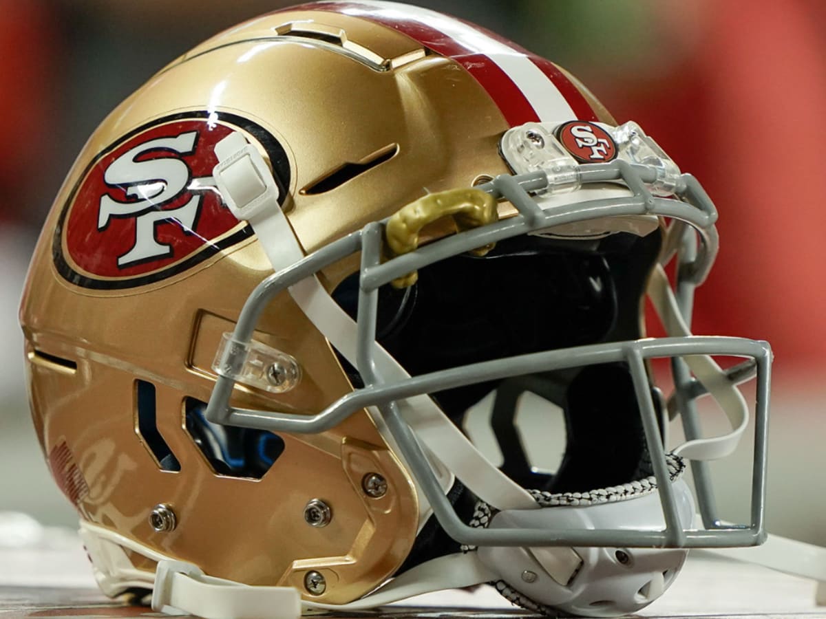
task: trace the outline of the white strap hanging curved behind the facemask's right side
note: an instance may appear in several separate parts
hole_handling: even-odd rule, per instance
[[[657,265],[648,283],[648,296],[657,310],[668,335],[687,337],[691,335],[682,318],[674,292],[668,283],[668,276],[661,265]],[[694,376],[705,386],[729,418],[732,431],[720,437],[698,438],[684,442],[674,449],[677,456],[690,460],[715,460],[729,454],[737,448],[748,424],[748,405],[743,394],[733,385],[726,373],[708,355],[686,355],[682,357]]]

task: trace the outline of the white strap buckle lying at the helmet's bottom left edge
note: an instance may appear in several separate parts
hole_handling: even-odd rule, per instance
[[[191,563],[162,560],[155,570],[152,609],[205,619],[298,619],[301,596],[294,587],[251,587],[207,576]]]

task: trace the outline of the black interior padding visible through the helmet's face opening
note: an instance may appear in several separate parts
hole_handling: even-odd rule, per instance
[[[498,243],[483,258],[448,258],[420,269],[412,288],[382,287],[377,340],[416,376],[529,352],[640,338],[643,295],[661,243],[659,231],[642,238],[612,234],[600,241],[526,236]],[[355,318],[358,273],[334,295]],[[354,385],[361,385],[358,371],[344,359],[342,364]],[[502,469],[526,488],[576,492],[624,484],[648,462],[624,363],[537,372],[432,396],[459,425],[467,409],[491,390],[498,390],[493,427],[505,460]],[[515,403],[526,390],[564,411],[567,446],[555,475],[531,471],[515,430]],[[431,547],[439,535],[422,543]]]

